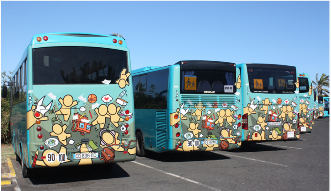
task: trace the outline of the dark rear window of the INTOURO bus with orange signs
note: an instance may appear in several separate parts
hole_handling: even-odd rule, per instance
[[[247,66],[251,92],[294,93],[296,69]]]

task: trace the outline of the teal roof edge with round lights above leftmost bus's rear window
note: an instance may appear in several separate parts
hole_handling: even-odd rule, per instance
[[[38,37],[40,41],[37,40]],[[122,44],[119,44],[119,41],[121,41]],[[29,45],[65,42],[98,43],[127,48],[125,39],[116,33],[111,35],[77,32],[41,33],[34,35]]]

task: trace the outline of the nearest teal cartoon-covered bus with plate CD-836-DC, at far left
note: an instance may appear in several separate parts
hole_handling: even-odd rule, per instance
[[[34,168],[135,160],[131,82],[129,49],[118,34],[33,36],[9,82],[23,176]]]

